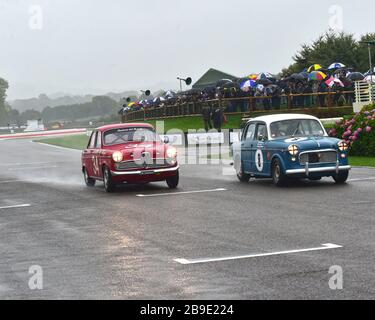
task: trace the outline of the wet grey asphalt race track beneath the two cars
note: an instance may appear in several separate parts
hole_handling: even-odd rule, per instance
[[[279,189],[182,165],[177,190],[106,194],[84,185],[79,151],[0,148],[2,299],[375,298],[375,170]],[[29,289],[33,265],[43,290]]]

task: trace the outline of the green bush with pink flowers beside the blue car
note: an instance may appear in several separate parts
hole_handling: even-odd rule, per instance
[[[337,122],[329,134],[349,143],[353,156],[375,156],[375,105]]]

